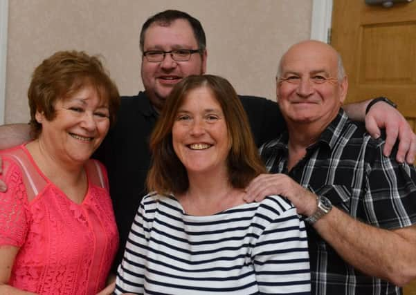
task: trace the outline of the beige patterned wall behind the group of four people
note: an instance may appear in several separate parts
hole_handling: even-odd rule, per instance
[[[5,122],[27,122],[26,90],[56,50],[101,53],[122,95],[143,90],[138,33],[165,9],[197,17],[207,35],[208,73],[240,94],[274,99],[277,61],[310,36],[312,0],[9,0]]]

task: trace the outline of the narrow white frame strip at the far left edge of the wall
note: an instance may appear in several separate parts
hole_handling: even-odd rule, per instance
[[[6,110],[8,0],[0,0],[0,125],[4,124]]]

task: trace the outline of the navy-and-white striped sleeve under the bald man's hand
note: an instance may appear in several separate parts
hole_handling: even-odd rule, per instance
[[[311,276],[305,223],[296,209],[269,198],[259,209],[264,230],[253,249],[253,263],[262,294],[310,294]],[[261,225],[264,223],[264,225]],[[278,291],[276,293],[276,291]]]

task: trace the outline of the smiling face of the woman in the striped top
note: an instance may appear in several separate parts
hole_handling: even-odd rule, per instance
[[[192,89],[184,97],[172,126],[172,143],[188,177],[192,173],[228,175],[226,119],[209,88]]]

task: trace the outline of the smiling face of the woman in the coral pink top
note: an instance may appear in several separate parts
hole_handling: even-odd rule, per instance
[[[48,121],[37,112],[42,124],[39,142],[55,159],[73,164],[89,159],[109,130],[109,108],[96,88],[84,86],[70,97],[57,99],[55,117]]]

